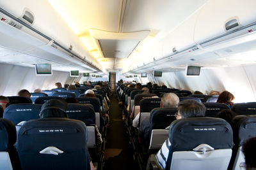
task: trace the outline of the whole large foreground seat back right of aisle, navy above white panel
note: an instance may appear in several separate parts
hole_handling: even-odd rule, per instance
[[[227,169],[232,154],[232,134],[230,124],[221,118],[173,121],[166,169]]]

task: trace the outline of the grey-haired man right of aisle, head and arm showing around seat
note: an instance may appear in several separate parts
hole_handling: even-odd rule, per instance
[[[161,98],[161,108],[177,108],[179,104],[179,97],[174,93],[166,93]],[[140,117],[140,116],[139,116]],[[135,118],[134,118],[135,120]],[[136,120],[135,120],[136,121]],[[132,126],[138,127],[138,122],[132,122]],[[150,122],[149,120],[143,120],[141,122],[141,129],[139,132],[139,141],[145,146],[149,146],[150,141]]]

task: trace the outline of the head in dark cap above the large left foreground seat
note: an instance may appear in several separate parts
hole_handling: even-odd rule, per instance
[[[42,105],[39,117],[67,117],[68,104],[66,101],[51,99]]]

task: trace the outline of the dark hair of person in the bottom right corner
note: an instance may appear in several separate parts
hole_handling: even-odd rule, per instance
[[[245,157],[245,164],[248,167],[256,167],[256,137],[250,138],[244,142],[242,151]]]

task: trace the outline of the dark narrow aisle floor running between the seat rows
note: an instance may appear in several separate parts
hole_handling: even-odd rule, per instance
[[[132,159],[132,148],[129,146],[116,93],[111,97],[109,116],[111,122],[107,131],[103,169],[138,169],[138,164]]]

